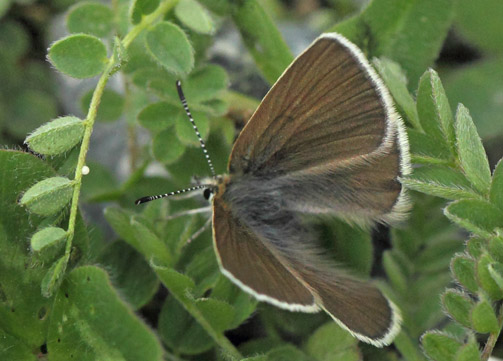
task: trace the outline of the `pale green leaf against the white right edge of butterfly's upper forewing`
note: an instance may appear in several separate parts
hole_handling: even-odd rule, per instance
[[[400,65],[387,58],[375,58],[373,62],[393,99],[395,99],[400,112],[407,117],[409,123],[416,130],[422,130],[416,110],[416,102],[407,89],[407,77]]]

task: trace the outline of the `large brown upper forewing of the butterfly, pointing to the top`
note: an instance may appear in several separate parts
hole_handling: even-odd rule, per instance
[[[363,55],[355,54],[325,35],[295,59],[238,137],[229,171],[281,174],[343,164],[389,142],[394,125],[385,100]]]

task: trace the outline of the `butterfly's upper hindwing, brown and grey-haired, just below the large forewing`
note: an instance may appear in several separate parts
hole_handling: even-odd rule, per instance
[[[409,209],[400,169],[398,139],[371,161],[345,167],[312,168],[271,180],[279,184],[285,206],[313,214],[335,214],[352,223],[402,221]]]

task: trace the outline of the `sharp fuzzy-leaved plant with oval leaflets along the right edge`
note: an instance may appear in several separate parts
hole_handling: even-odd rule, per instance
[[[388,79],[397,80],[391,76]],[[403,102],[399,106],[405,108],[408,104]],[[451,115],[440,79],[433,70],[428,70],[419,82],[417,114],[419,121],[415,121],[409,137],[412,155],[421,166],[402,179],[402,183],[410,189],[450,200],[444,215],[471,233],[465,249],[450,262],[459,287],[442,295],[444,312],[465,328],[461,332],[464,337],[429,331],[422,336],[422,345],[426,355],[434,360],[487,360],[503,322],[503,310],[497,305],[503,297],[501,277],[496,271],[501,269],[501,258],[495,252],[495,248],[503,245],[502,163],[498,163],[491,175],[468,110],[460,104],[455,117]],[[427,149],[428,143],[420,141],[426,137],[435,142],[437,149]],[[477,333],[488,334],[480,353]]]

